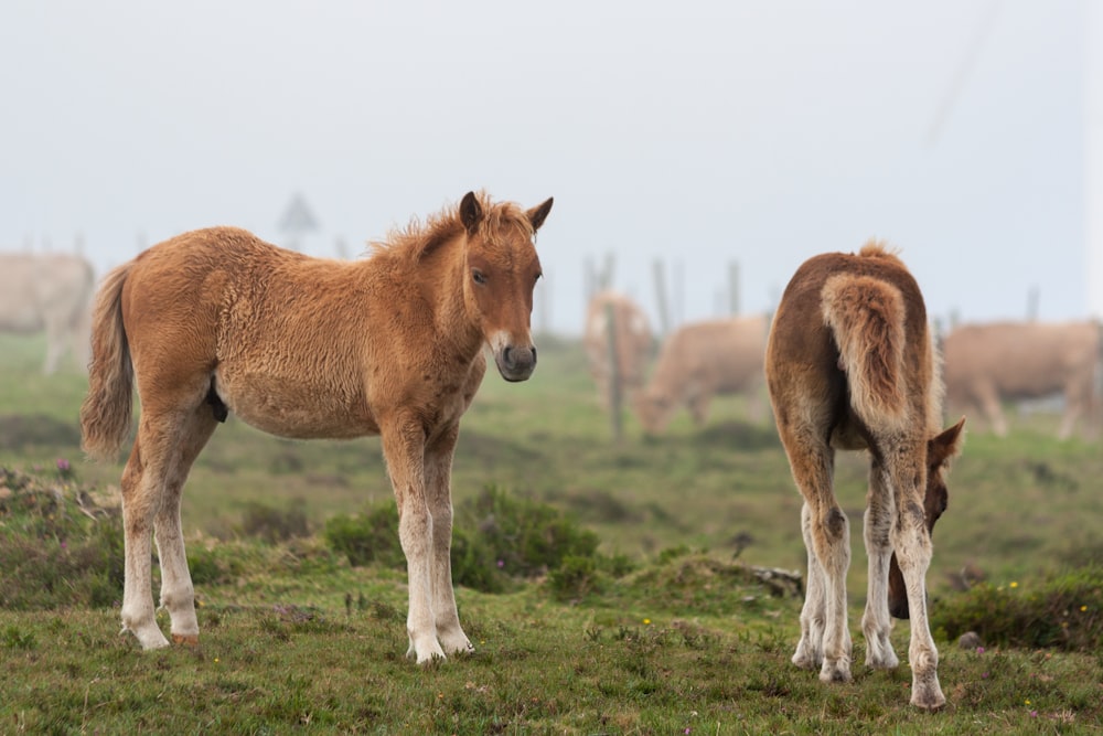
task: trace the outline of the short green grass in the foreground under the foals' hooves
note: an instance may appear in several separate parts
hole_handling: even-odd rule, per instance
[[[686,568],[696,570],[684,584]],[[1097,653],[942,643],[950,705],[907,705],[907,668],[829,686],[789,662],[795,598],[699,559],[630,577],[603,605],[542,585],[459,591],[476,647],[418,668],[405,650],[401,575],[248,575],[201,596],[197,648],[140,652],[117,611],[0,611],[0,723],[31,733],[673,734],[1091,733]],[[692,589],[690,589],[692,588]],[[677,593],[692,598],[686,606]],[[358,602],[346,606],[345,594]],[[893,634],[906,651],[907,626]]]

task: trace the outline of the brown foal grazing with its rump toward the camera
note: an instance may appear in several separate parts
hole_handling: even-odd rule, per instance
[[[804,495],[808,580],[793,662],[820,669],[825,682],[850,679],[849,526],[833,474],[836,449],[868,450],[866,664],[897,666],[890,609],[910,615],[911,702],[927,710],[945,704],[927,618],[931,530],[946,506],[943,474],[964,424],[941,430],[939,369],[919,287],[876,243],[858,255],[815,256],[796,270],[765,359],[778,431]]]

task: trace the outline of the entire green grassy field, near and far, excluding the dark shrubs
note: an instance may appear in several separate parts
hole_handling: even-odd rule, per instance
[[[58,460],[92,487],[121,463],[86,463],[76,416],[85,381],[39,375],[34,340],[0,339],[0,466],[42,474]],[[568,511],[606,554],[639,569],[561,602],[536,580],[507,595],[461,589],[478,653],[418,669],[404,658],[404,575],[350,568],[321,543],[247,538],[250,508],[302,509],[314,529],[387,502],[377,439],[291,442],[233,417],[196,462],[184,498],[189,551],[245,561],[199,585],[200,648],[139,653],[118,611],[0,610],[0,732],[54,733],[1099,733],[1103,652],[975,648],[939,640],[950,700],[907,706],[907,668],[861,665],[865,465],[840,457],[852,519],[855,682],[827,686],[789,662],[796,597],[741,577],[739,563],[800,570],[800,495],[773,428],[737,399],[697,430],[610,439],[577,344],[545,341],[524,384],[489,374],[464,419],[457,504],[493,483]],[[968,435],[935,531],[932,606],[964,578],[1030,596],[1053,570],[1103,559],[1103,452],[1053,439],[1057,419]],[[0,530],[2,533],[2,530]],[[682,554],[671,554],[682,548]],[[665,552],[664,552],[665,551]],[[320,561],[317,565],[308,564]],[[307,561],[307,562],[304,562]],[[194,564],[194,563],[193,563]],[[0,559],[0,574],[4,569]],[[908,626],[895,631],[906,654]],[[901,657],[901,659],[904,659]]]

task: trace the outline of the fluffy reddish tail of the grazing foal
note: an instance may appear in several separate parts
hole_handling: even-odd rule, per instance
[[[855,414],[870,426],[902,428],[909,417],[900,290],[869,276],[838,274],[824,284],[821,307],[838,345]]]

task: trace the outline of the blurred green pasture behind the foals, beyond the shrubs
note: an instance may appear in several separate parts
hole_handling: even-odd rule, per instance
[[[750,420],[746,396],[719,396],[704,425],[682,408],[652,436],[625,407],[617,440],[581,343],[552,335],[537,343],[534,377],[506,384],[489,374],[464,417],[457,503],[495,484],[569,511],[610,554],[647,559],[685,546],[803,574],[800,494],[769,416]],[[125,456],[90,463],[79,450],[84,374],[68,365],[43,375],[44,350],[41,335],[0,337],[0,465],[49,473],[67,463],[82,481],[117,488]],[[1094,521],[1103,513],[1099,439],[1058,440],[1060,416],[1045,404],[1007,409],[1008,436],[970,431],[954,465],[950,509],[934,533],[934,595],[1103,559]],[[866,467],[864,454],[839,455],[853,606],[864,600]],[[231,416],[192,470],[183,523],[193,538],[232,538],[250,510],[296,508],[317,530],[334,514],[392,498],[378,438],[283,440]]]

